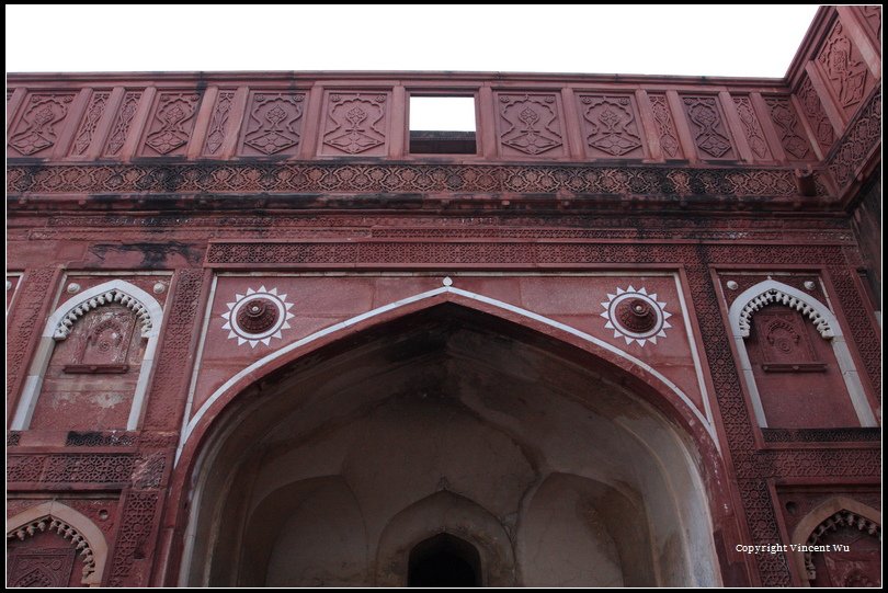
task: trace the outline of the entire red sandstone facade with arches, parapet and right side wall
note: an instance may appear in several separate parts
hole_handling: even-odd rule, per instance
[[[10,76],[9,584],[406,584],[429,541],[880,583],[880,35],[821,9],[784,80]],[[476,152],[411,153],[435,94]]]

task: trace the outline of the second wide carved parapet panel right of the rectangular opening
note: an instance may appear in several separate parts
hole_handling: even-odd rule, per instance
[[[587,155],[600,159],[642,159],[641,122],[635,96],[578,95]]]

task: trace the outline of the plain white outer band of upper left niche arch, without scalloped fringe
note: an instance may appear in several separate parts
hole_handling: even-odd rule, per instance
[[[151,320],[150,329],[147,333],[143,333],[143,338],[147,338],[148,343],[145,345],[145,356],[141,360],[139,376],[136,380],[136,390],[133,395],[133,404],[129,408],[129,418],[126,421],[127,431],[138,429],[145,406],[148,380],[153,367],[155,351],[157,350],[157,341],[160,335],[160,324],[163,320],[163,309],[161,309],[160,304],[155,297],[138,286],[123,280],[113,280],[93,286],[92,288],[87,288],[82,293],[75,295],[61,304],[55,312],[49,316],[44,327],[43,334],[41,334],[41,341],[39,344],[37,344],[34,362],[31,365],[31,373],[25,379],[22,399],[19,401],[15,418],[12,420],[10,430],[24,431],[31,425],[31,418],[34,415],[34,409],[37,407],[37,399],[39,398],[41,387],[43,386],[43,377],[46,375],[46,368],[49,366],[49,358],[53,356],[53,350],[56,345],[54,335],[59,322],[84,300],[103,295],[109,290],[117,290],[139,301],[145,310],[148,311]]]

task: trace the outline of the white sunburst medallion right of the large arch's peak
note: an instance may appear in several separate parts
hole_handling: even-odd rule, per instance
[[[672,327],[667,321],[672,313],[667,312],[665,303],[660,303],[656,293],[648,294],[644,287],[637,290],[631,285],[625,290],[617,287],[616,294],[608,293],[607,300],[601,305],[604,307],[601,316],[607,320],[604,327],[614,330],[614,338],[623,338],[627,345],[633,342],[639,346],[648,342],[656,344]]]

